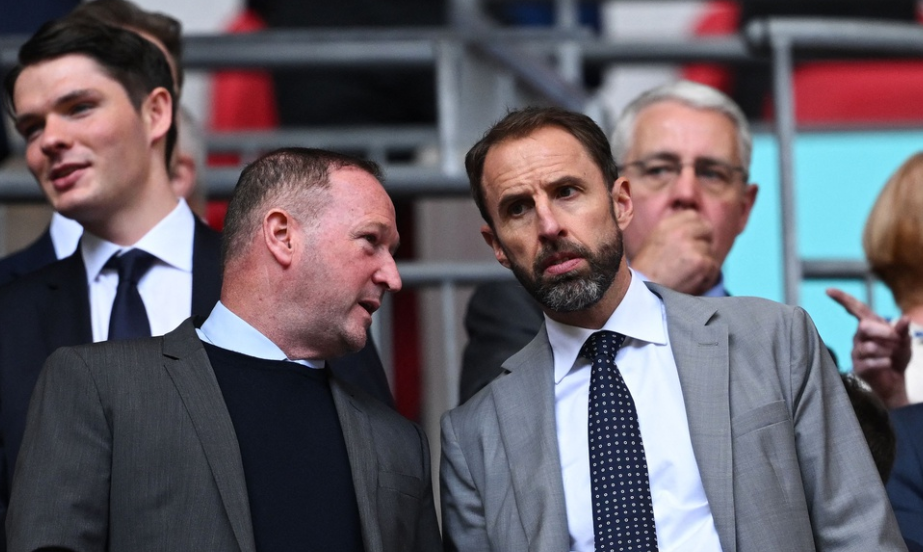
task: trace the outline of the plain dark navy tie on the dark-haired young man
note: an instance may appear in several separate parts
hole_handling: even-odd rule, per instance
[[[147,319],[147,309],[138,293],[138,280],[154,264],[154,256],[140,249],[132,249],[124,255],[116,253],[105,268],[119,272],[119,287],[112,302],[112,314],[109,316],[109,339],[130,339],[150,337],[151,324]]]

